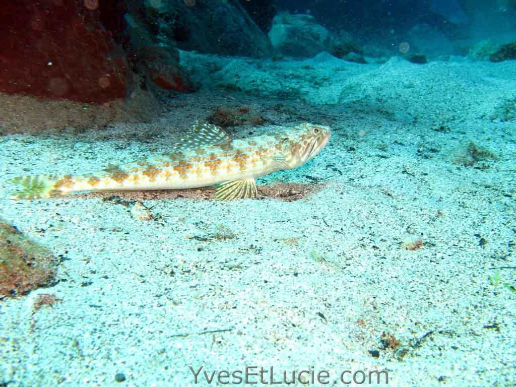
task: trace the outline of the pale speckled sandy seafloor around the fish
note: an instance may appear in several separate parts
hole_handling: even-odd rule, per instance
[[[259,180],[326,186],[295,202],[144,201],[155,219],[144,221],[99,198],[11,201],[7,179],[160,152],[168,132],[0,138],[2,217],[61,258],[55,286],[0,303],[0,382],[190,386],[188,366],[208,376],[263,366],[273,381],[327,370],[323,381],[344,385],[350,370],[349,385],[363,375],[368,385],[370,371],[386,370],[393,386],[516,385],[506,286],[516,280],[516,121],[498,118],[516,103],[516,61],[358,65],[321,54],[193,66],[212,86],[257,95],[224,98],[258,106],[267,129],[329,124],[315,159]],[[208,106],[200,92],[173,103],[160,124],[203,118],[220,101]],[[471,141],[497,158],[464,166]],[[417,237],[423,247],[405,249]],[[39,293],[60,301],[35,312]],[[382,348],[383,332],[396,350]],[[197,385],[245,385],[219,376],[201,372]],[[370,384],[386,385],[375,374]]]

